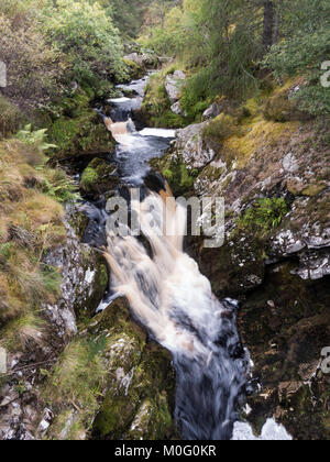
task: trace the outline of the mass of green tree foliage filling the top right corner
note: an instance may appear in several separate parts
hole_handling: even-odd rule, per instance
[[[144,30],[141,43],[186,68],[182,107],[188,113],[219,95],[243,101],[264,88],[265,68],[280,85],[304,76],[293,98],[299,111],[318,116],[330,112],[320,81],[329,13],[327,0],[183,0]]]

